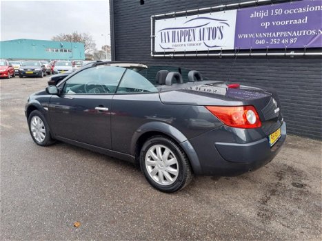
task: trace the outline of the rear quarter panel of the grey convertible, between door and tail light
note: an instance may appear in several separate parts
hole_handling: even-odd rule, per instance
[[[161,103],[159,93],[117,94],[113,97],[111,111],[113,150],[130,154],[134,134],[141,132],[143,125],[152,122],[166,123],[163,133],[170,132],[167,128],[170,125],[186,139],[223,125],[205,107],[165,105]]]

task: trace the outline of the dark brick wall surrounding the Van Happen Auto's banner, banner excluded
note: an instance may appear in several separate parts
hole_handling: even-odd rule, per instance
[[[150,16],[239,1],[114,1],[114,54],[117,61],[179,65],[214,80],[274,87],[279,93],[288,133],[322,139],[322,59],[318,57],[223,57],[161,59],[150,56]]]

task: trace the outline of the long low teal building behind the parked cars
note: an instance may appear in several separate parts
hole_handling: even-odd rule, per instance
[[[83,60],[83,43],[14,39],[0,42],[1,59]]]

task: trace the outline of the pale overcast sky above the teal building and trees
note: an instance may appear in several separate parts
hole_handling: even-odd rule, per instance
[[[0,40],[50,40],[74,31],[91,34],[97,49],[110,34],[110,6],[101,1],[3,1],[0,0]],[[101,36],[101,34],[105,34]],[[107,35],[110,45],[110,35]]]

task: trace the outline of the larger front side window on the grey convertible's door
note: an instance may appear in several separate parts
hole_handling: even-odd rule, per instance
[[[70,77],[63,94],[114,94],[124,72],[123,67],[90,67]]]

